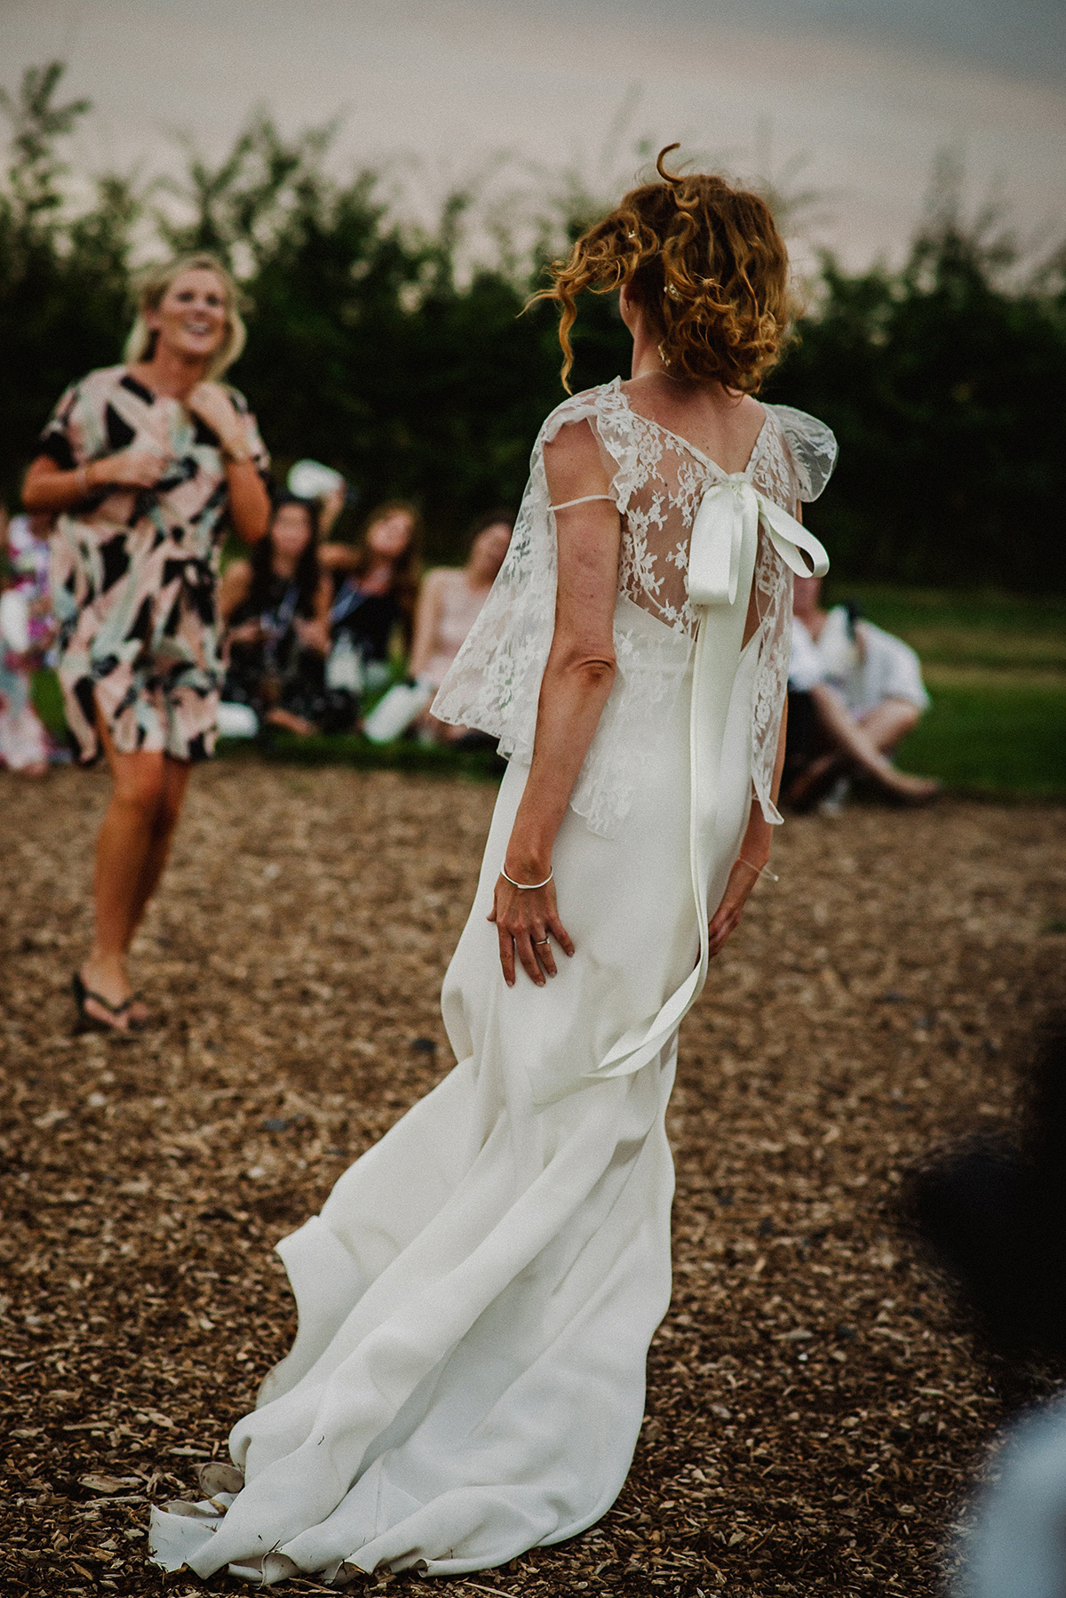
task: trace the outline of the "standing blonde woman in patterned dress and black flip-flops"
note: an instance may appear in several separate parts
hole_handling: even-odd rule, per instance
[[[225,518],[267,531],[267,452],[219,382],[245,344],[213,256],[149,272],[126,363],[62,396],[26,475],[27,511],[58,516],[53,599],[67,725],[101,749],[113,793],[96,844],[96,935],[74,975],[83,1023],[144,1020],[126,956],[163,873],[189,772],[214,748],[217,556]]]

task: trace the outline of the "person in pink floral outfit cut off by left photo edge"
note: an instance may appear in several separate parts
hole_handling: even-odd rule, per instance
[[[3,540],[8,575],[0,583],[0,765],[24,777],[43,777],[56,754],[34,710],[34,674],[46,665],[56,638],[50,532],[50,516],[13,516]]]

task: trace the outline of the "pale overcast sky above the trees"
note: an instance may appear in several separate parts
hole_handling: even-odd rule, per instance
[[[85,171],[173,166],[174,129],[217,155],[265,104],[340,112],[334,161],[403,157],[414,209],[500,150],[617,189],[646,136],[742,177],[805,158],[855,264],[898,257],[945,149],[972,203],[1066,232],[1061,0],[0,0],[0,80],[53,56]]]

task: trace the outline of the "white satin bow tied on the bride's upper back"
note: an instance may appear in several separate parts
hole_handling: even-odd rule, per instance
[[[689,599],[695,606],[737,602],[740,547],[746,529],[764,524],[770,543],[801,577],[825,577],[829,556],[802,523],[767,499],[745,476],[714,483],[695,513],[689,547]],[[801,555],[801,550],[804,551]],[[809,556],[810,566],[804,561]]]

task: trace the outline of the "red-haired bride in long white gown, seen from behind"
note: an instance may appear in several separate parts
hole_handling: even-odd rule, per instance
[[[545,422],[433,705],[510,757],[444,980],[459,1064],[278,1245],[296,1344],[233,1467],[153,1513],[166,1569],[484,1569],[590,1526],[630,1469],[678,1023],[780,820],[791,570],[826,566],[793,513],[836,454],[753,398],[790,313],[767,208],[658,169],[555,268],[567,368],[575,296],[620,289],[633,377]]]

